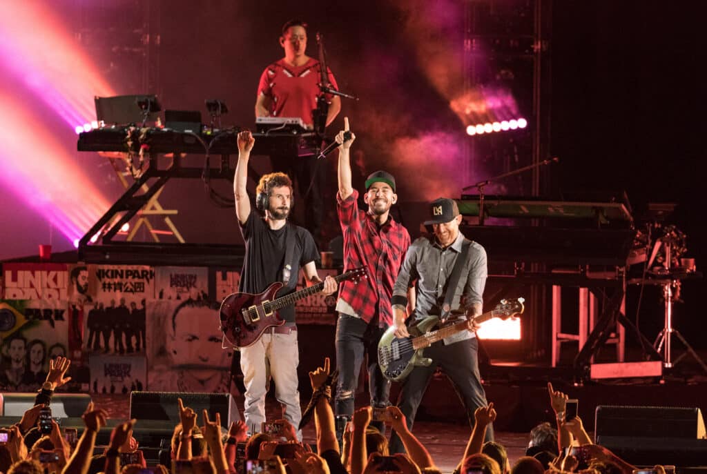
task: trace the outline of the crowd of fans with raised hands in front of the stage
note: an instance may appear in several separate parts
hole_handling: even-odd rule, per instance
[[[287,420],[267,423],[263,432],[248,435],[245,422],[233,422],[223,430],[221,414],[211,420],[209,412],[196,413],[179,400],[180,422],[174,427],[170,448],[159,460],[146,459],[132,436],[140,420],[127,420],[112,429],[107,446],[96,446],[107,412],[93,402],[83,413],[81,436],[66,436],[71,429],[42,417],[51,406],[55,390],[69,381],[71,361],[57,357],[37,393],[35,405],[22,419],[0,429],[0,473],[7,474],[369,474],[440,473],[426,447],[407,428],[405,415],[388,406],[378,417],[395,430],[404,453],[390,454],[385,430],[371,426],[375,410],[358,408],[347,423],[341,443],[337,439],[332,409],[332,377],[329,359],[309,373],[312,399],[303,423],[314,418],[316,446],[300,442],[297,427]],[[455,473],[541,474],[573,473],[629,474],[636,466],[592,444],[582,420],[565,419],[566,394],[548,384],[549,403],[556,415],[556,427],[545,422],[530,433],[526,456],[511,463],[498,442],[484,442],[486,429],[496,419],[496,407],[489,403],[474,413],[475,424],[466,447],[459,453]],[[199,415],[201,423],[199,424]],[[313,449],[312,449],[313,448]],[[149,462],[148,462],[149,461]],[[653,466],[665,474],[663,466]]]

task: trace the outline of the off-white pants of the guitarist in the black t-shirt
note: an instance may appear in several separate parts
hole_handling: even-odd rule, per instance
[[[297,430],[302,418],[297,366],[300,352],[297,331],[273,333],[269,328],[255,344],[240,350],[240,369],[245,384],[245,424],[251,434],[259,433],[265,421],[265,396],[269,377],[275,381],[275,398],[282,405],[282,417]],[[298,438],[302,433],[297,431]]]

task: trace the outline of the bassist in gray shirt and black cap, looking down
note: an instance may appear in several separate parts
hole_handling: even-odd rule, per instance
[[[462,309],[469,316],[481,314],[482,296],[486,285],[486,251],[484,247],[464,238],[459,230],[462,216],[457,203],[452,199],[440,198],[431,203],[430,218],[425,225],[431,225],[433,235],[420,237],[410,246],[398,273],[391,299],[395,324],[395,337],[409,337],[405,325],[407,289],[415,284],[416,304],[412,321],[421,321],[430,315],[442,316],[450,310]],[[467,248],[465,248],[467,247]],[[455,288],[448,288],[450,276],[457,257],[464,254],[460,277]],[[449,307],[445,307],[445,297],[454,292]],[[445,312],[445,309],[447,310]],[[474,411],[488,405],[484,387],[481,386],[479,363],[477,360],[477,326],[469,321],[467,331],[439,340],[425,349],[425,356],[431,358],[428,367],[417,366],[404,379],[398,406],[404,413],[407,424],[412,424],[437,367],[450,379],[466,410],[469,424],[474,425]],[[493,439],[493,428],[486,429],[486,441]],[[390,439],[390,452],[403,452],[402,442],[395,432]]]

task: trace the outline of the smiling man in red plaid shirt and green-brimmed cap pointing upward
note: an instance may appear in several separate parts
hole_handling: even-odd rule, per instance
[[[349,140],[344,140],[345,132],[351,134]],[[349,159],[349,149],[355,139],[346,117],[344,131],[337,135],[337,142],[341,143],[337,210],[344,233],[344,271],[363,267],[367,278],[358,283],[346,281],[339,287],[336,338],[339,379],[334,403],[339,437],[346,421],[354,414],[354,395],[364,355],[368,355],[370,404],[375,407],[389,404],[390,381],[382,376],[378,367],[378,341],[392,326],[390,297],[410,246],[407,229],[390,215],[390,206],[397,202],[392,174],[385,171],[370,174],[363,196],[368,211],[358,209],[358,191],[351,186]],[[385,428],[382,422],[378,427],[381,431]]]

